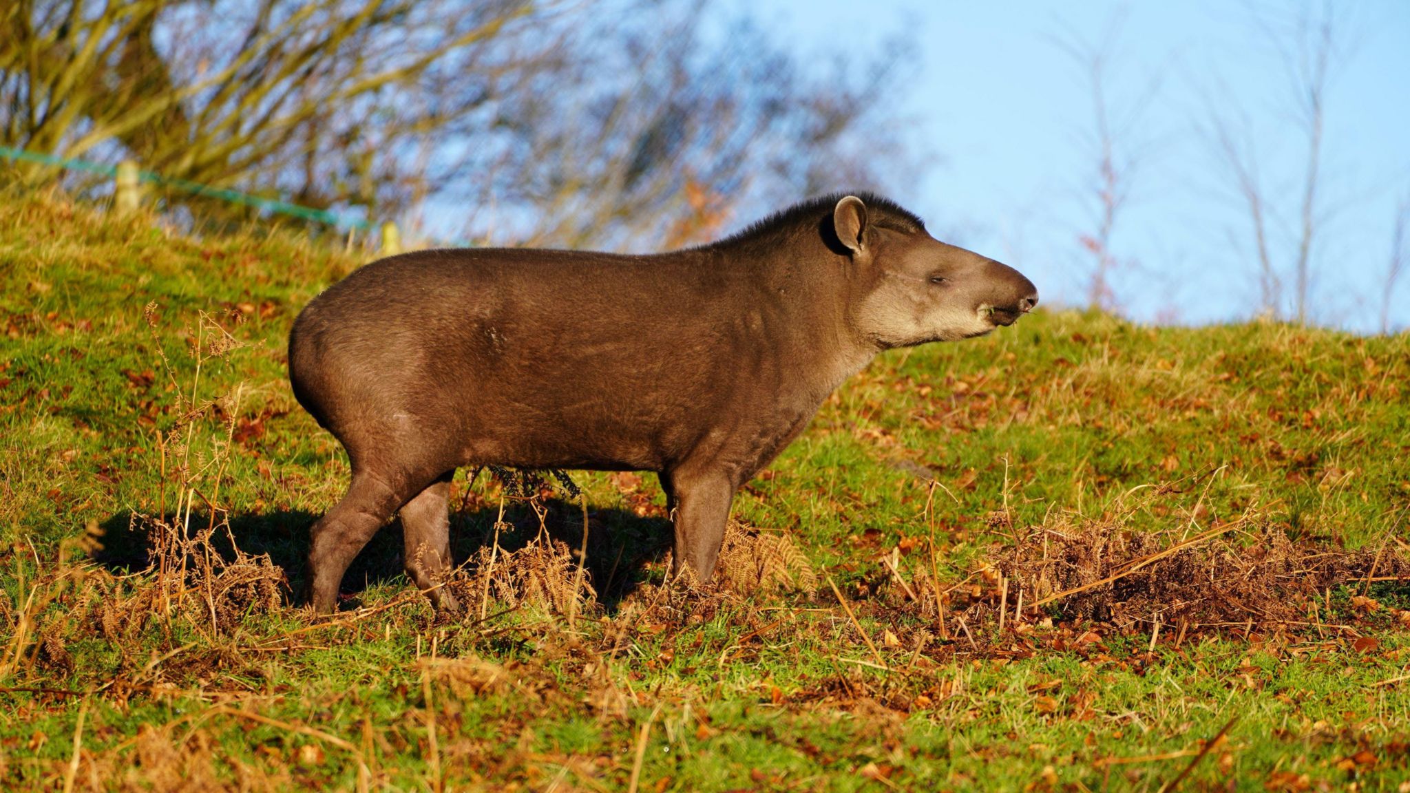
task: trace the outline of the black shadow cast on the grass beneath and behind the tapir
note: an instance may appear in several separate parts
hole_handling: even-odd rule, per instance
[[[541,502],[546,514],[540,523],[539,515],[523,502],[505,508],[505,523],[501,528],[499,546],[517,550],[547,531],[554,540],[561,540],[577,550],[582,543],[581,508],[568,501],[550,498]],[[226,559],[234,557],[234,543],[250,555],[269,555],[271,562],[283,570],[289,581],[292,605],[305,603],[305,584],[309,555],[309,528],[319,515],[303,509],[279,509],[264,514],[231,515],[230,531],[216,529],[212,546]],[[481,507],[451,514],[451,555],[457,564],[475,556],[481,547],[488,547],[495,536],[498,507]],[[210,515],[192,512],[189,533],[195,535],[210,526]],[[151,535],[141,521],[134,521],[131,512],[118,512],[102,523],[103,547],[92,555],[99,564],[114,573],[135,573],[145,570],[152,562]],[[588,576],[598,591],[598,603],[608,611],[615,611],[623,597],[654,574],[660,574],[660,562],[670,547],[671,523],[664,518],[639,516],[625,509],[588,511]],[[371,587],[400,584],[410,587],[403,570],[402,523],[393,519],[382,528],[358,553],[343,576],[343,594],[348,601]]]

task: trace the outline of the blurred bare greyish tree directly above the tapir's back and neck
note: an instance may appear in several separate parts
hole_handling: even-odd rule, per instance
[[[881,96],[904,49],[805,75],[749,21],[722,38],[706,41],[689,7],[581,28],[565,47],[594,68],[570,90],[522,95],[522,134],[454,164],[492,175],[464,185],[465,203],[494,196],[494,224],[537,244],[660,248],[809,193],[878,188],[902,165]]]

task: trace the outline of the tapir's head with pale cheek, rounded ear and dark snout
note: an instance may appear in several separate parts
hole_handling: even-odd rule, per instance
[[[881,347],[983,336],[1038,305],[1021,272],[931,237],[894,205],[846,196],[832,210],[839,253],[852,257],[854,329]]]

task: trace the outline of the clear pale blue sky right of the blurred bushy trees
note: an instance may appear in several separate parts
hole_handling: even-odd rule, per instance
[[[787,0],[737,4],[805,58],[869,52],[908,31],[905,89],[925,176],[897,200],[950,241],[1024,270],[1048,302],[1081,303],[1090,258],[1096,158],[1086,73],[1059,38],[1100,42],[1115,30],[1108,104],[1144,107],[1120,143],[1138,152],[1112,237],[1120,309],[1141,320],[1244,319],[1259,301],[1248,212],[1200,131],[1211,114],[1246,119],[1269,203],[1296,226],[1306,138],[1292,117],[1285,61],[1259,20],[1285,3],[1004,3]],[[1410,1],[1342,0],[1345,56],[1327,92],[1325,206],[1313,255],[1310,317],[1379,329],[1392,219],[1410,199]],[[1117,25],[1112,28],[1112,25]],[[887,157],[887,152],[877,152]],[[1292,237],[1275,234],[1289,258]],[[1289,278],[1285,278],[1290,281]],[[1410,274],[1392,326],[1410,326]]]

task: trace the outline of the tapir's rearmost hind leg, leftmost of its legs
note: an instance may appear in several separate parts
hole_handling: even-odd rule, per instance
[[[309,595],[314,611],[329,614],[337,608],[338,586],[352,557],[422,487],[352,470],[347,495],[310,529]]]

